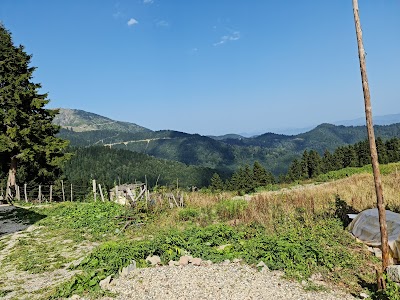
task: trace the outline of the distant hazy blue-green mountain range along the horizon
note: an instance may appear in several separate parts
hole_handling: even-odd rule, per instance
[[[157,158],[230,173],[259,161],[275,175],[285,173],[291,161],[306,149],[322,153],[367,138],[365,126],[321,124],[297,134],[265,133],[246,138],[236,134],[201,136],[171,130],[151,131],[137,124],[118,122],[81,110],[61,109],[54,120],[60,136],[73,146],[103,145]],[[375,126],[377,137],[400,137],[400,124]]]

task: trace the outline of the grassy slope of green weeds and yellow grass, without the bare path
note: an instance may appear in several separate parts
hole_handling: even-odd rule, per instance
[[[384,170],[387,169],[383,172],[385,199],[393,208],[399,207],[398,166],[383,166]],[[85,291],[99,295],[102,293],[98,288],[99,280],[117,273],[131,259],[135,259],[139,266],[145,266],[147,255],[160,255],[167,263],[186,252],[214,262],[236,257],[249,264],[263,260],[269,268],[282,269],[287,276],[299,280],[319,273],[325,281],[355,294],[374,286],[374,267],[379,263],[343,229],[341,221],[336,218],[335,206],[338,197],[356,210],[373,206],[375,200],[370,174],[260,192],[250,202],[230,200],[232,196],[193,193],[185,198],[184,209],[170,210],[165,203],[164,206],[159,203],[150,212],[138,208],[129,214],[136,222],[146,225],[129,226],[124,232],[121,228],[125,222],[118,224],[114,217],[127,212],[112,203],[35,207],[31,210],[47,216],[37,223],[43,226],[42,230],[37,235],[26,235],[9,249],[7,264],[21,274],[41,274],[50,271],[43,266],[57,268],[68,265],[76,257],[61,257],[60,252],[65,251],[62,243],[55,248],[51,243],[36,247],[34,255],[29,256],[32,254],[28,250],[35,247],[35,241],[46,245],[45,240],[57,238],[68,241],[68,247],[100,243],[77,267],[80,275],[75,275],[57,289],[43,289],[38,295],[68,296]],[[146,238],[149,235],[152,238]],[[144,239],[134,241],[135,237]],[[6,241],[0,240],[1,248],[5,247]],[[218,250],[218,246],[224,244],[230,246]],[[33,263],[28,264],[30,261]],[[309,286],[315,288],[311,281]],[[5,287],[0,286],[0,289]]]

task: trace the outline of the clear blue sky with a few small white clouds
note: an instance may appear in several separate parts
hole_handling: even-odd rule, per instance
[[[400,113],[400,1],[360,0],[374,115]],[[1,0],[50,107],[153,130],[362,117],[351,0]]]

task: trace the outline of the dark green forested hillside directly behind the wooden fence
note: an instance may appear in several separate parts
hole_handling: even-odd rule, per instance
[[[173,185],[181,187],[206,186],[215,170],[187,166],[180,162],[154,158],[142,153],[107,147],[77,148],[64,167],[64,174],[76,185],[86,186],[90,179],[112,187],[119,181],[145,181],[150,186]]]

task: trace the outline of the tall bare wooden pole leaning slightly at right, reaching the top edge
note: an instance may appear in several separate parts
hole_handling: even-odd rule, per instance
[[[382,271],[385,272],[387,266],[389,265],[386,211],[383,203],[382,181],[381,181],[381,174],[379,171],[378,153],[376,151],[374,127],[372,124],[371,95],[368,86],[367,67],[365,63],[365,50],[362,40],[360,16],[358,14],[358,0],[353,0],[353,12],[354,12],[354,22],[357,33],[358,56],[360,58],[361,79],[364,91],[365,118],[367,121],[368,140],[371,151],[372,169],[375,180],[376,200],[379,211],[379,226],[381,230],[381,244],[382,244]]]

